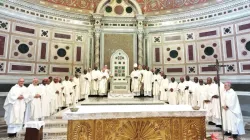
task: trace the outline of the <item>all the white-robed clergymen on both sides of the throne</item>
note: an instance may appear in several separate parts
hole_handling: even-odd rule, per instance
[[[39,84],[35,78],[27,88],[24,86],[24,79],[19,79],[4,103],[9,136],[15,136],[25,122],[42,120],[83,98],[88,99],[89,95],[106,95],[109,75],[111,74],[105,65],[101,71],[94,67],[93,70],[84,70],[82,75],[76,74],[73,78],[65,76],[63,81],[58,77],[49,77]],[[223,129],[226,134],[231,133],[236,137],[245,133],[237,94],[231,89],[230,83],[220,83],[220,106],[217,77],[214,77],[214,82],[208,77],[206,85],[197,77],[191,81],[189,76],[185,80],[181,77],[180,83],[177,83],[174,77],[169,81],[160,70],[149,70],[146,66],[137,67],[137,64],[134,64],[130,76],[131,92],[135,96],[141,93],[152,96],[153,93],[155,99],[171,105],[199,106],[207,110],[207,122],[218,127],[222,124],[222,108]]]

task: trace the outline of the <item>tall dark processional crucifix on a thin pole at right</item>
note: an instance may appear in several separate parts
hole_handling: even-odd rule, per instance
[[[217,73],[217,79],[218,79],[218,93],[219,93],[219,102],[220,102],[220,117],[221,117],[221,133],[223,136],[223,140],[224,140],[224,131],[223,131],[223,118],[222,118],[222,106],[221,106],[221,93],[220,93],[220,68],[221,67],[227,67],[227,65],[220,65],[218,59],[216,59],[216,63],[215,65],[209,65],[208,67],[214,67],[216,69],[216,73]]]

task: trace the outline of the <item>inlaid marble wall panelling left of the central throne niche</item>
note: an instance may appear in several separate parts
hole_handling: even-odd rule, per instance
[[[72,75],[86,68],[88,34],[0,18],[0,75]]]

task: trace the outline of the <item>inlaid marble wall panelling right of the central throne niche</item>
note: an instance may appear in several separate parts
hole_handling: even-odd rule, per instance
[[[165,74],[210,76],[218,59],[222,76],[250,74],[250,18],[150,34],[151,62]],[[150,60],[149,60],[150,61]],[[249,83],[249,81],[248,81]]]

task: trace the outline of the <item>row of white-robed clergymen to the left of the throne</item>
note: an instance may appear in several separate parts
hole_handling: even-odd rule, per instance
[[[75,77],[65,76],[65,80],[49,77],[39,84],[39,80],[34,78],[28,87],[24,85],[24,79],[20,78],[10,89],[4,103],[4,119],[9,137],[15,137],[26,122],[44,120],[84,98],[88,99],[90,93],[105,95],[108,72],[105,65],[101,71],[94,67]]]

